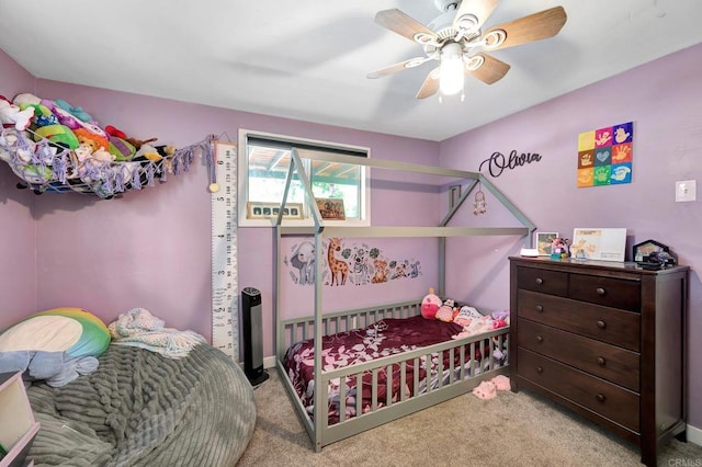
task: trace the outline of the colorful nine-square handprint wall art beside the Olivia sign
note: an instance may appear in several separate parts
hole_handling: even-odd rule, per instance
[[[578,187],[632,182],[634,123],[621,123],[578,136]]]

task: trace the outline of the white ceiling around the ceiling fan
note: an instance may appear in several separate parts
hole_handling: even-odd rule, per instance
[[[37,78],[440,141],[702,42],[701,0],[501,0],[485,26],[555,5],[561,33],[490,53],[510,71],[464,102],[415,99],[432,64],[366,79],[422,55],[375,13],[427,24],[433,0],[0,0],[0,48]]]

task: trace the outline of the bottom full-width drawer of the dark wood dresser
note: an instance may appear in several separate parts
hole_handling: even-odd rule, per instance
[[[519,375],[638,432],[638,395],[555,360],[519,349]]]

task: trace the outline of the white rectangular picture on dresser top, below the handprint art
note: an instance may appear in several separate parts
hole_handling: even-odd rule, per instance
[[[624,261],[626,229],[577,228],[570,255],[580,260]]]

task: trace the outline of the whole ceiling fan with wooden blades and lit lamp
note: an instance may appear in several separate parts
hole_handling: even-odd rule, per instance
[[[553,37],[566,23],[567,16],[563,7],[554,7],[484,32],[482,27],[498,1],[434,0],[435,7],[442,13],[427,26],[398,9],[380,11],[375,15],[375,22],[421,45],[424,56],[382,68],[367,77],[381,78],[418,67],[426,61],[437,60],[439,66],[429,72],[417,93],[417,99],[429,98],[437,91],[441,91],[443,95],[461,92],[463,99],[464,75],[492,84],[510,68],[484,50],[491,52]]]

